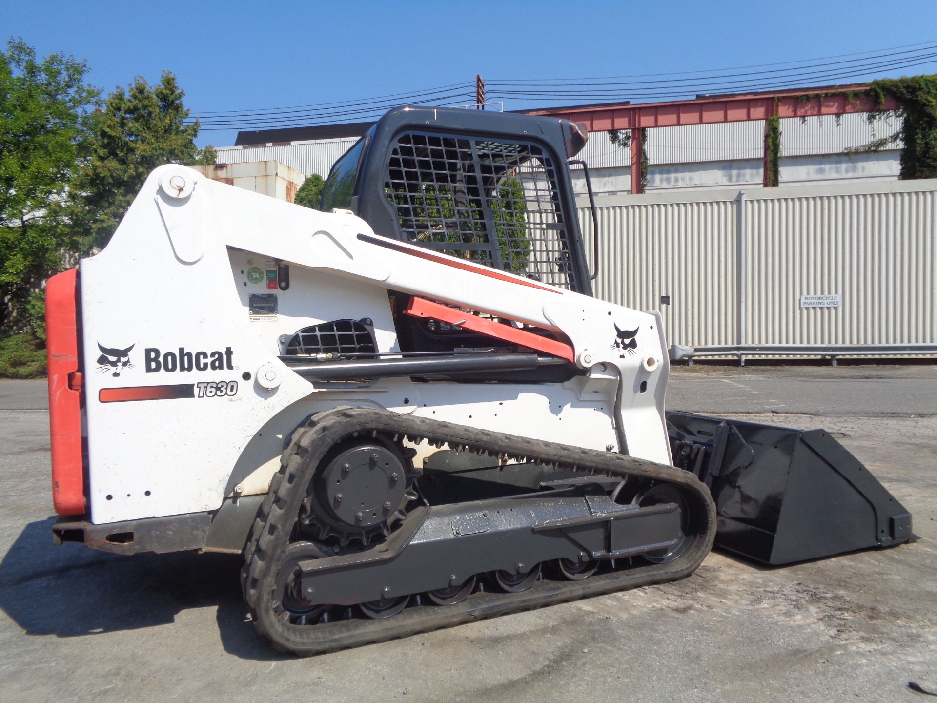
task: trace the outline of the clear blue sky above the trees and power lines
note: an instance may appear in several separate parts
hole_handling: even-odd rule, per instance
[[[85,60],[88,82],[105,92],[170,70],[197,114],[417,92],[474,82],[476,73],[485,82],[635,76],[937,44],[937,2],[0,0],[0,30],[40,56]],[[937,58],[873,77],[925,72],[937,72]],[[235,136],[203,130],[197,143],[229,145]]]

